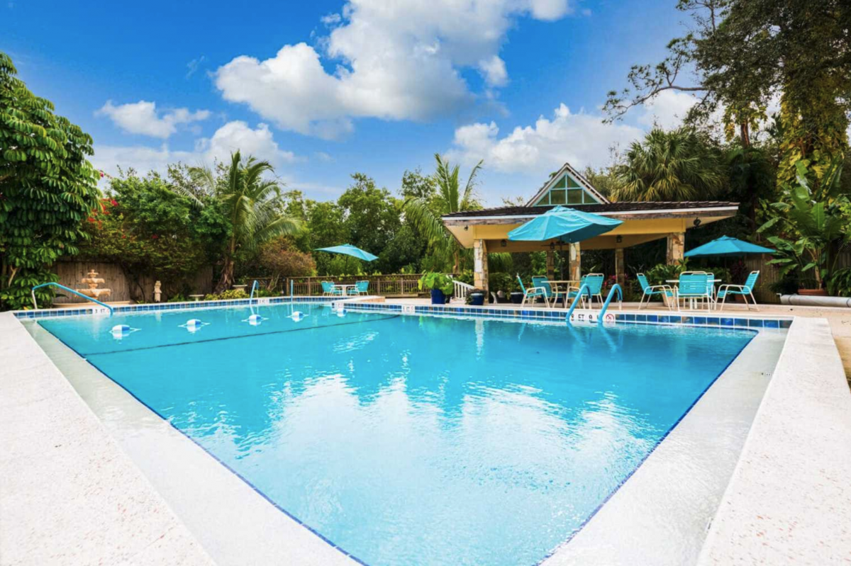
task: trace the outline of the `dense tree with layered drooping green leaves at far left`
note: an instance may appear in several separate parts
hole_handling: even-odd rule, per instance
[[[17,78],[0,52],[0,308],[25,308],[30,290],[57,280],[49,267],[77,253],[100,173],[86,160],[92,139],[54,115],[54,105]],[[53,292],[39,293],[49,303]]]

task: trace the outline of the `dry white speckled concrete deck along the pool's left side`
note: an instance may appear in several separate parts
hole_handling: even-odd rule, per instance
[[[0,313],[0,564],[213,564],[11,313]]]

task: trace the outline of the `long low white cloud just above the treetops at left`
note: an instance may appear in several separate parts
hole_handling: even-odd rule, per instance
[[[170,150],[168,144],[159,148],[143,145],[95,145],[92,163],[106,173],[116,174],[118,167],[133,167],[139,173],[164,173],[169,163],[182,161],[187,165],[213,166],[215,161],[230,159],[231,152],[240,150],[243,156],[266,159],[275,167],[297,161],[292,151],[281,150],[266,124],[252,129],[245,122],[228,122],[211,138],[198,139],[192,151]]]

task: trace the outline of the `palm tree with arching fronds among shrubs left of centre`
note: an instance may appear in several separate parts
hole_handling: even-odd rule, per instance
[[[233,285],[233,258],[237,250],[254,250],[263,242],[281,235],[292,235],[300,229],[299,221],[281,212],[281,190],[277,181],[263,178],[274,171],[269,161],[252,156],[243,163],[239,151],[231,154],[231,166],[223,178],[216,178],[208,167],[190,167],[189,175],[203,194],[219,202],[222,213],[231,224],[230,235],[222,252],[222,269],[215,292]],[[184,190],[199,206],[204,201]]]

